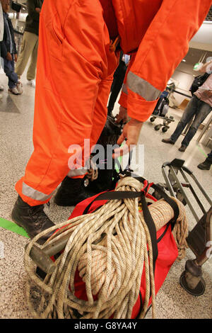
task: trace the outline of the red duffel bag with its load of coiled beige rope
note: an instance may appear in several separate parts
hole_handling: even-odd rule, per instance
[[[157,202],[148,193],[150,188],[164,200]],[[52,275],[39,265],[36,274],[33,271],[29,254],[37,235],[25,251],[28,300],[37,317],[143,318],[151,305],[155,317],[155,294],[182,252],[177,250],[177,245],[182,249],[179,239],[172,235],[173,227],[178,227],[185,216],[181,205],[146,179],[124,177],[115,191],[100,193],[76,205],[70,223],[55,225],[54,235],[42,247],[45,258],[49,255],[56,260]],[[184,233],[183,228],[181,231]]]

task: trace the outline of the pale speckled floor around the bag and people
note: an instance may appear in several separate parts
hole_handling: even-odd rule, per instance
[[[35,89],[26,85],[23,78],[23,95],[8,95],[6,77],[0,74],[0,82],[4,84],[4,98],[0,101],[0,218],[11,220],[11,209],[16,201],[14,185],[23,175],[25,164],[28,162],[33,151],[32,129],[33,129],[33,108]],[[117,111],[117,105],[115,111]],[[161,140],[169,137],[177,124],[180,111],[170,109],[170,114],[175,116],[175,123],[171,124],[167,133],[156,132],[153,127],[155,123],[147,121],[143,125],[140,144],[144,145],[145,168],[143,176],[155,183],[164,182],[161,166],[164,162],[170,162],[175,157],[186,161],[186,166],[194,171],[197,179],[204,186],[206,192],[212,197],[210,171],[201,171],[196,166],[203,162],[206,153],[211,149],[199,144],[196,145],[195,138],[189,145],[186,152],[178,151],[180,139],[175,146],[165,145]],[[181,137],[182,138],[182,137]],[[199,194],[204,202],[204,198]],[[192,198],[191,198],[192,201]],[[192,201],[198,213],[196,203]],[[209,206],[206,205],[206,208]],[[55,223],[69,218],[70,208],[61,208],[51,200],[50,208],[46,212]],[[192,213],[187,208],[189,228],[195,225]],[[25,269],[23,265],[23,253],[28,239],[18,236],[13,232],[0,227],[0,241],[4,242],[4,258],[0,259],[0,317],[1,318],[31,318],[25,300]],[[187,259],[194,259],[194,254],[187,250],[186,259],[175,262],[170,273],[160,289],[157,296],[157,317],[158,318],[211,318],[212,317],[212,288],[211,288],[211,264],[207,262],[203,268],[203,275],[206,280],[206,292],[199,298],[189,295],[179,285],[179,276],[184,271],[184,264]],[[151,317],[151,311],[147,317]]]

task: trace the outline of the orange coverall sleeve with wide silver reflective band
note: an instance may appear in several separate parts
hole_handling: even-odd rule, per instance
[[[119,100],[131,118],[146,121],[153,113],[211,4],[211,0],[163,0],[139,45]]]

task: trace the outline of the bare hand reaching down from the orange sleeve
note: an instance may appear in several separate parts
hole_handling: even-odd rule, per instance
[[[131,149],[131,145],[137,145],[142,125],[143,122],[139,120],[133,118],[129,120],[129,123],[124,126],[122,135],[120,135],[119,140],[117,141],[118,145],[121,145],[124,140],[126,140],[126,143],[123,147],[114,149],[114,154],[112,155],[113,158],[127,154]]]

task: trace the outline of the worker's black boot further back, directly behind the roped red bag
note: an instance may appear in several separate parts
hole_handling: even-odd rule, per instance
[[[54,197],[54,203],[61,206],[77,205],[93,196],[94,193],[86,193],[85,188],[82,186],[82,181],[82,179],[66,176]]]

